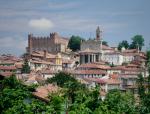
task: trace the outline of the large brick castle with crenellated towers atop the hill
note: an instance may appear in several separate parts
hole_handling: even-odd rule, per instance
[[[33,34],[29,34],[27,52],[29,54],[33,51],[66,52],[68,42],[68,38],[61,37],[56,32],[50,33],[48,37],[35,37]]]

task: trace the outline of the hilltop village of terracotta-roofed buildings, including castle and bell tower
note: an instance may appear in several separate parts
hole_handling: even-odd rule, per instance
[[[117,47],[103,45],[101,34],[98,27],[95,38],[81,41],[80,50],[76,52],[68,48],[69,38],[56,32],[47,37],[29,34],[27,52],[23,57],[0,56],[0,79],[15,73],[17,79],[26,85],[41,84],[63,71],[71,73],[89,89],[100,85],[102,99],[112,89],[137,94],[138,74],[148,76],[145,52],[138,48],[122,47],[118,50]],[[24,60],[30,67],[30,73],[22,73]],[[57,89],[56,85],[43,85],[34,94],[46,99],[47,91]]]

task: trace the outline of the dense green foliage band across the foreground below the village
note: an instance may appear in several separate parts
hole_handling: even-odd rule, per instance
[[[61,77],[60,77],[61,76]],[[61,93],[50,94],[49,102],[33,97],[34,89],[23,85],[15,76],[1,81],[0,109],[2,114],[148,114],[150,112],[150,89],[145,90],[149,78],[139,75],[139,101],[128,92],[111,90],[105,100],[101,100],[100,87],[88,89],[73,76],[59,72],[48,83],[57,83]],[[60,82],[60,83],[58,83]],[[139,104],[137,104],[139,102]]]

